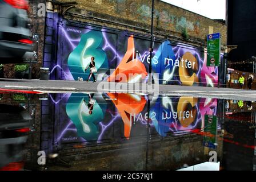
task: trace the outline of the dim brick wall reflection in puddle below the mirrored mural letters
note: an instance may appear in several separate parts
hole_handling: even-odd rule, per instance
[[[182,137],[153,138],[146,147],[146,140],[123,142],[104,146],[86,146],[63,150],[59,156],[71,167],[51,166],[49,170],[175,170],[185,164],[193,166],[207,162],[203,137],[187,135]],[[218,161],[222,156],[222,144],[218,146]],[[211,151],[211,150],[209,150]],[[148,155],[146,157],[146,152]],[[79,154],[79,155],[77,155]],[[147,160],[147,163],[146,163]]]

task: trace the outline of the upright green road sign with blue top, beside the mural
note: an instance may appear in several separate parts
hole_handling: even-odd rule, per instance
[[[221,60],[221,34],[207,35],[207,67],[218,67]]]

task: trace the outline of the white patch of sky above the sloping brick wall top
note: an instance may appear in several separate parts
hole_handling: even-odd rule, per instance
[[[226,0],[161,0],[211,19],[226,19]]]

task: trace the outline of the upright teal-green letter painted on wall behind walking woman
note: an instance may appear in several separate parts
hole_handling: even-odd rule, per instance
[[[78,46],[67,59],[74,80],[78,77],[86,78],[85,68],[89,65],[92,56],[95,57],[95,67],[97,69],[101,67],[108,68],[107,55],[102,49],[102,44],[103,35],[101,31],[91,30],[82,34]]]

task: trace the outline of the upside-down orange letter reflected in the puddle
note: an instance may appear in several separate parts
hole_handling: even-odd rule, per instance
[[[115,107],[122,117],[125,126],[125,137],[130,138],[131,126],[133,117],[136,114],[141,113],[146,105],[146,99],[143,96],[133,97],[133,94],[127,93],[108,93],[109,97],[112,98]],[[138,98],[139,97],[139,98]],[[114,100],[114,98],[116,100]]]

